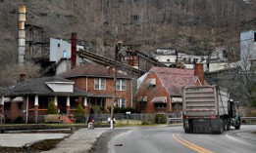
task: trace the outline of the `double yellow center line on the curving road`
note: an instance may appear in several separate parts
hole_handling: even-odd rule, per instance
[[[190,148],[190,149],[192,149],[192,150],[194,150],[194,151],[196,151],[196,152],[199,152],[199,153],[213,153],[212,151],[209,151],[209,150],[207,150],[207,149],[204,149],[204,148],[202,148],[202,147],[200,147],[200,146],[197,146],[197,145],[195,145],[195,144],[193,144],[193,143],[191,143],[191,142],[188,142],[188,141],[184,140],[183,138],[181,138],[181,137],[179,136],[179,134],[173,134],[173,137],[174,137],[179,143],[183,144],[184,146],[186,146],[186,147],[188,147],[188,148]]]

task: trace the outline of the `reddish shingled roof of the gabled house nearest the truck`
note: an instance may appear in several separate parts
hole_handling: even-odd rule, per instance
[[[196,80],[199,81],[199,78],[194,75],[193,69],[152,67],[149,71],[157,75],[170,96],[181,96],[183,86],[194,85]]]

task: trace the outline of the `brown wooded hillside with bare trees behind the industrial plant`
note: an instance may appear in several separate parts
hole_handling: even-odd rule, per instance
[[[17,61],[19,4],[26,5],[26,24],[42,27],[46,41],[70,40],[77,32],[78,42],[87,50],[108,57],[113,56],[117,40],[143,53],[175,48],[209,55],[224,45],[237,55],[239,32],[256,29],[256,21],[249,21],[255,19],[255,1],[1,0],[0,69]]]

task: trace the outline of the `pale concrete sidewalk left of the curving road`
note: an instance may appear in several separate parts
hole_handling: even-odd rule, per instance
[[[97,138],[110,128],[79,129],[75,134],[62,140],[56,148],[43,153],[86,153]]]

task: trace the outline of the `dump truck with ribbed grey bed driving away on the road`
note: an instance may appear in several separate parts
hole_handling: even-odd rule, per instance
[[[241,124],[228,90],[217,85],[183,87],[182,115],[185,133],[222,134]]]

